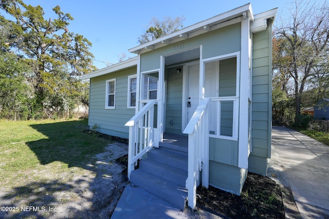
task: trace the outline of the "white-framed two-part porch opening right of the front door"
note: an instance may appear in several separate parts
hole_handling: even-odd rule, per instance
[[[236,54],[236,55],[235,55]],[[239,127],[240,53],[209,59],[205,65],[205,97],[210,97],[211,137],[237,139]]]

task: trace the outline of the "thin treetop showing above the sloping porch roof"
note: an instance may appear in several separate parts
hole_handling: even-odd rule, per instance
[[[184,20],[184,16],[176,18],[163,17],[162,21],[155,17],[152,17],[149,26],[146,27],[146,32],[137,38],[137,42],[139,44],[144,44],[153,41],[154,39],[159,38],[161,36],[165,36],[172,32],[175,32],[179,30],[179,28],[182,28],[182,23]]]

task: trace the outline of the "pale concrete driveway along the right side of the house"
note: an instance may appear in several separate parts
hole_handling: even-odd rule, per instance
[[[285,127],[272,127],[280,158],[303,218],[329,218],[329,146]]]

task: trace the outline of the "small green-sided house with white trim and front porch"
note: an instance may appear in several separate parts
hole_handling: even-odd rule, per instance
[[[183,199],[194,208],[198,185],[240,194],[248,171],[266,175],[276,12],[254,15],[247,4],[132,48],[136,57],[82,76],[90,78],[90,128],[129,138],[133,183],[142,187],[138,174],[156,175],[157,166],[179,168],[154,182],[175,183],[182,171]],[[163,162],[143,164],[154,153],[162,153]],[[179,167],[174,159],[184,160],[181,155],[186,166]],[[156,173],[143,170],[150,166]],[[150,182],[145,189],[157,184]]]

